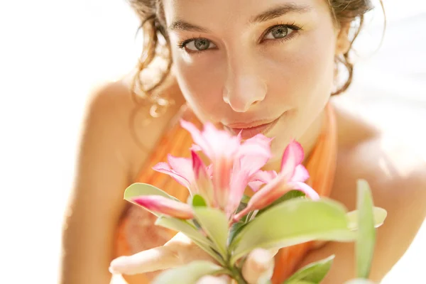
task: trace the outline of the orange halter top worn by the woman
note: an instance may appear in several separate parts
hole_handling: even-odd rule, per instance
[[[334,180],[336,156],[337,156],[337,129],[334,119],[334,111],[330,104],[326,107],[327,116],[317,144],[310,157],[307,158],[305,167],[310,173],[307,180],[312,188],[322,196],[329,196]],[[190,111],[184,111],[182,119],[191,121],[195,126],[201,128],[202,124]],[[175,123],[165,132],[165,136],[158,143],[151,158],[140,172],[135,182],[145,182],[168,192],[169,195],[177,197],[186,202],[189,195],[188,190],[168,175],[158,173],[152,169],[153,165],[167,160],[170,153],[178,157],[189,157],[188,149],[192,146],[190,133]],[[119,224],[116,239],[116,256],[129,256],[139,251],[162,246],[176,232],[159,226],[155,226],[156,217],[150,212],[138,208],[129,203]],[[280,249],[275,256],[275,271],[273,273],[273,284],[282,283],[291,273],[294,273],[297,265],[305,257],[306,253],[313,247],[313,242],[298,244]],[[129,284],[149,283],[151,273],[143,275],[124,275]]]

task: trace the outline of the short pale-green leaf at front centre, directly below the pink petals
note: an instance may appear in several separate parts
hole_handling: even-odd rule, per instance
[[[228,219],[224,212],[209,207],[195,207],[195,219],[205,233],[216,245],[217,251],[226,258],[226,241],[228,239]]]

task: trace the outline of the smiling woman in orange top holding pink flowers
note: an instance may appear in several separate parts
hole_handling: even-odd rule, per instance
[[[190,109],[185,115],[194,121],[211,121],[231,133],[242,130],[244,138],[258,132],[275,137],[270,169],[278,168],[283,149],[297,138],[309,157],[305,163],[319,173],[321,186],[314,188],[349,209],[354,209],[356,179],[368,180],[375,204],[388,210],[371,271],[372,280],[381,280],[425,218],[426,180],[420,159],[397,142],[385,151],[386,133],[330,102],[351,82],[351,23],[362,23],[370,1],[132,0],[131,6],[145,33],[142,79],[134,89],[129,77],[108,84],[89,104],[65,222],[62,283],[109,283],[111,259],[138,251],[113,261],[110,270],[136,274],[126,277],[129,283],[146,283],[150,271],[206,257],[190,253],[193,246],[180,234],[162,247],[170,234],[153,226],[143,209],[129,209],[122,198],[132,182],[149,182],[149,168],[162,161],[160,153],[185,150],[190,140],[170,126],[185,105]],[[165,61],[158,60],[154,68],[153,58]],[[339,66],[349,71],[344,82],[337,76]],[[133,91],[139,89],[144,92],[136,96]],[[136,104],[132,98],[138,98]],[[161,137],[165,140],[158,143]],[[325,168],[323,160],[328,161]],[[285,260],[276,265],[275,283],[333,253],[337,257],[324,283],[354,277],[351,244],[312,246],[290,257],[293,252],[275,257]],[[244,269],[249,283],[271,272],[274,254],[251,253]]]

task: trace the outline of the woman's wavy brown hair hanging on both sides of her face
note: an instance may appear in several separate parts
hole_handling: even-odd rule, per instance
[[[133,80],[133,97],[139,106],[148,107],[151,117],[163,114],[165,109],[173,103],[166,97],[161,97],[156,90],[165,82],[170,74],[172,58],[170,56],[170,42],[165,28],[165,17],[161,0],[128,0],[132,9],[141,20],[140,30],[143,31],[143,49],[138,62],[138,68]],[[380,0],[381,1],[381,0]],[[343,66],[347,71],[346,80],[340,84],[335,94],[344,92],[351,84],[354,75],[354,65],[350,53],[354,40],[359,35],[364,23],[364,14],[373,6],[371,0],[327,0],[332,18],[337,26],[351,26],[352,36],[349,50],[336,58],[337,66]],[[383,8],[383,2],[381,1]],[[155,58],[163,58],[166,67],[159,71],[158,80],[147,86],[141,80],[141,73],[148,69]]]

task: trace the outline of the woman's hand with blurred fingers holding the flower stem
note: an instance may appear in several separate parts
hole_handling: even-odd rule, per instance
[[[244,279],[249,284],[264,283],[265,279],[271,279],[273,273],[273,256],[278,250],[268,251],[255,249],[249,253],[242,268]],[[164,246],[141,251],[133,256],[121,256],[111,262],[109,271],[133,275],[175,268],[192,261],[214,261],[208,253],[193,244],[192,241],[182,233],[176,234]],[[230,283],[228,276],[204,276],[197,284],[225,284]]]

